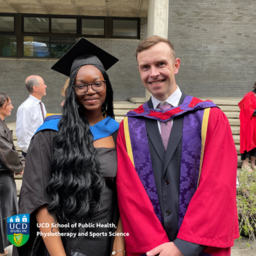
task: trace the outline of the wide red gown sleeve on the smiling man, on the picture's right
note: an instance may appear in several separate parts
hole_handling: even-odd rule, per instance
[[[239,237],[237,152],[226,115],[210,110],[199,188],[183,219],[178,238],[195,244],[228,248]]]

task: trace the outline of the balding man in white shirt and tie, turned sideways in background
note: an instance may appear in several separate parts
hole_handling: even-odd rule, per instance
[[[46,118],[46,108],[41,99],[46,95],[47,86],[44,84],[42,77],[38,75],[27,77],[25,85],[30,95],[17,111],[16,135],[17,145],[26,157],[30,139]]]

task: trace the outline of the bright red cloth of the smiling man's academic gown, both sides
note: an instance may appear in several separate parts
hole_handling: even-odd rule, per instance
[[[169,240],[127,154],[123,122],[117,153],[118,205],[124,232],[129,233],[125,238],[127,256],[142,255]],[[237,152],[228,118],[220,109],[212,108],[199,188],[188,206],[179,239],[205,245],[203,251],[208,255],[230,255],[230,247],[239,237],[236,170]],[[221,253],[218,248],[223,248]]]

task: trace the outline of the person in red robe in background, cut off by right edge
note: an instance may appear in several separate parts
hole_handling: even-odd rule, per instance
[[[241,160],[244,161],[242,167],[253,172],[256,169],[256,82],[253,91],[246,93],[238,106],[240,108],[240,153]]]

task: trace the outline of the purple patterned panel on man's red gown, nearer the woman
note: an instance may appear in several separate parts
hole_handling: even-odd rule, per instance
[[[152,202],[156,216],[163,223],[147,141],[145,120],[143,118],[128,118],[128,124],[135,170]]]

